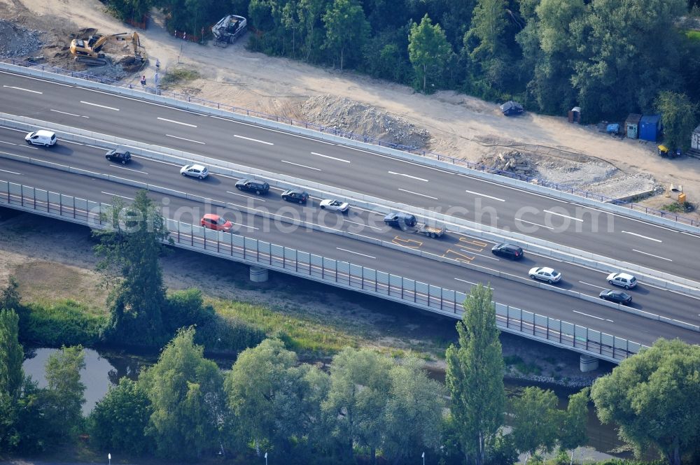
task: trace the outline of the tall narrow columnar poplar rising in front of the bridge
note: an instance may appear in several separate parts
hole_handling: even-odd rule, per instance
[[[484,464],[505,410],[505,364],[492,296],[489,287],[472,287],[457,323],[458,345],[446,353],[451,415],[466,459],[477,465]]]

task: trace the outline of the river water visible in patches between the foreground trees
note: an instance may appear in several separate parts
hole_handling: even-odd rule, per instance
[[[31,375],[40,387],[45,387],[44,366],[49,355],[57,349],[35,348],[25,350],[24,364],[25,374]],[[122,352],[111,352],[109,350],[96,351],[85,349],[85,370],[80,373],[80,378],[85,385],[85,404],[83,414],[87,415],[92,411],[95,403],[102,399],[110,385],[118,383],[123,376],[137,379],[141,369],[151,366],[158,361],[158,354],[133,355]],[[217,361],[222,369],[230,369],[232,360]],[[435,376],[440,378],[440,376]],[[444,381],[444,375],[442,375]],[[508,396],[519,394],[522,389],[528,386],[538,385],[533,382],[520,382],[516,380],[506,380],[505,388]],[[566,408],[568,396],[577,392],[577,389],[567,389],[565,387],[552,385],[538,385],[544,389],[552,389],[559,398],[559,406]],[[598,452],[610,453],[610,450],[618,448],[622,443],[617,438],[617,433],[610,425],[601,424],[596,416],[594,408],[589,406],[588,415],[588,436],[589,447]],[[618,455],[627,457],[628,455]]]

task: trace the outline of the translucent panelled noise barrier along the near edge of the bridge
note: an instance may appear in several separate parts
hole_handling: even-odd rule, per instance
[[[101,213],[109,208],[106,203],[3,180],[0,180],[0,205],[97,229],[105,227]],[[462,317],[466,298],[463,292],[193,224],[168,219],[167,227],[175,245],[180,248],[356,290],[457,319]],[[496,303],[496,324],[501,331],[613,363],[619,363],[644,347],[624,338],[501,303]]]

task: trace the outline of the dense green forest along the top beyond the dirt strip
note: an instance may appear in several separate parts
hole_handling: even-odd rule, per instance
[[[153,7],[195,41],[223,15],[244,15],[251,50],[419,92],[550,115],[580,106],[582,122],[673,109],[694,127],[698,113],[698,0],[109,1],[123,20]]]

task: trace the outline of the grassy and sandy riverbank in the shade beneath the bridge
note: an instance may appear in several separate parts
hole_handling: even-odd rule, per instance
[[[90,315],[106,316],[109,289],[94,271],[90,230],[76,224],[0,209],[0,287],[9,276],[23,303],[45,308],[71,302]],[[414,355],[430,370],[444,371],[444,350],[456,342],[455,320],[356,292],[270,273],[264,283],[248,280],[248,267],[195,252],[174,250],[162,259],[170,290],[200,289],[218,313],[283,339],[302,360],[330,361],[342,347],[370,347],[394,357]],[[41,341],[37,341],[41,342]],[[580,373],[575,352],[501,335],[509,379],[583,387],[612,364]],[[225,347],[207,351],[230,356]]]

